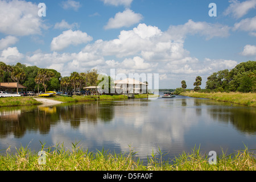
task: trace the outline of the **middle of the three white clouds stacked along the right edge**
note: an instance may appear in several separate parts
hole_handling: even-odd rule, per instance
[[[256,16],[253,18],[242,19],[240,22],[234,24],[233,30],[243,30],[251,32],[251,35],[256,31]]]

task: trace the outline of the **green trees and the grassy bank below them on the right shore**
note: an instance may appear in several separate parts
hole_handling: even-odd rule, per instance
[[[196,82],[201,82],[198,77],[196,79]],[[182,88],[177,88],[174,94],[256,106],[256,61],[240,63],[230,71],[225,69],[213,73],[207,78],[205,89],[196,82],[195,89],[191,90],[185,89],[187,85],[181,81]]]

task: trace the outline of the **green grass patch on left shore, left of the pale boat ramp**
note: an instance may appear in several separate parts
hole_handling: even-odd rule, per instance
[[[34,100],[32,97],[0,97],[0,107],[4,106],[26,106],[39,105],[40,102]]]

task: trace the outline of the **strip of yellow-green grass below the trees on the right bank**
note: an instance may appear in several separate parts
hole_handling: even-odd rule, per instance
[[[183,92],[181,96],[210,98],[212,100],[230,102],[246,106],[256,107],[256,93],[239,93],[239,92],[217,92],[217,93],[199,93],[199,92]]]

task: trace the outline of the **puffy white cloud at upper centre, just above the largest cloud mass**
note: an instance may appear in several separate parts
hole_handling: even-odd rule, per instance
[[[115,14],[114,18],[110,18],[108,24],[104,27],[105,29],[130,27],[135,23],[139,23],[142,19],[142,15],[134,13],[130,9],[126,9],[122,13]]]

